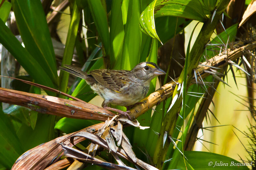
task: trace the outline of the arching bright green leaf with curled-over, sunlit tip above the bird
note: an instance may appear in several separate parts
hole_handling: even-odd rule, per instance
[[[182,17],[198,21],[207,19],[202,4],[198,0],[155,0],[141,13],[141,31],[160,41],[156,33],[155,18],[162,16]]]

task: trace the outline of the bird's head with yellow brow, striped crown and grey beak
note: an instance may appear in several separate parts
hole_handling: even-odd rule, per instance
[[[149,81],[156,76],[166,74],[164,70],[160,69],[159,66],[152,62],[139,63],[131,71],[134,73],[136,78]]]

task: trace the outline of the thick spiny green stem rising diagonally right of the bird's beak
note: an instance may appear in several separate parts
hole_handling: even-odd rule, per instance
[[[198,62],[203,54],[204,47],[208,43],[215,27],[217,26],[219,19],[227,8],[227,5],[230,0],[221,0],[219,5],[216,8],[216,13],[214,18],[212,19],[212,15],[209,17],[208,20],[205,21],[199,35],[196,38],[196,41],[193,45],[193,48],[190,51],[190,57],[188,63],[188,79],[187,79],[187,85],[190,84],[192,78],[193,78],[193,70],[197,67]],[[182,83],[184,80],[184,69],[182,70],[179,78],[179,83]],[[173,97],[177,94],[177,88],[175,87],[175,90],[173,92]],[[188,89],[188,86],[187,86]],[[170,140],[166,139],[165,144],[163,146],[164,141],[164,132],[167,132],[169,136],[172,136],[173,130],[176,126],[178,113],[181,109],[181,103],[182,103],[182,96],[179,97],[179,99],[175,102],[175,104],[172,106],[171,110],[166,114],[164,118],[164,122],[162,123],[160,135],[157,141],[156,150],[153,156],[153,163],[158,169],[162,169],[163,162],[166,157],[166,153],[168,151]]]

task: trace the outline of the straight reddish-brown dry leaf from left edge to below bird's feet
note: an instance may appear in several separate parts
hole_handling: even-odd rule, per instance
[[[105,121],[115,114],[101,107],[53,96],[0,88],[0,101],[28,107],[36,112],[76,119]]]

